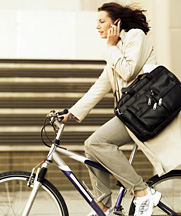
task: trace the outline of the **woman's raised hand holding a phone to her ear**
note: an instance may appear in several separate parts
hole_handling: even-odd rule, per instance
[[[121,21],[118,21],[118,25],[111,25],[111,28],[107,31],[107,46],[115,46],[119,40],[121,29]]]

